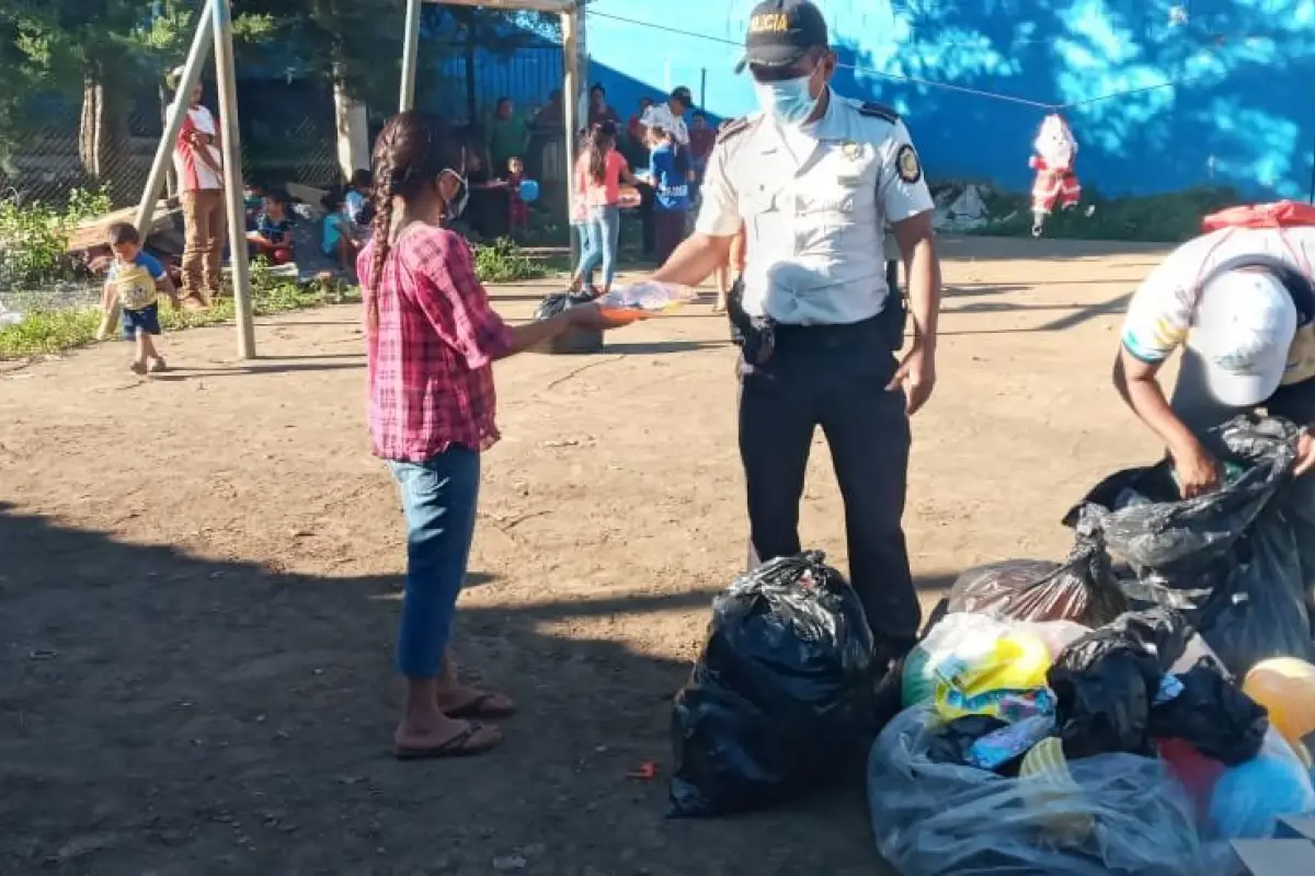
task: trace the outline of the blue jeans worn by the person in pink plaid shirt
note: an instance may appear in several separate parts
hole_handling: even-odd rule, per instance
[[[454,445],[426,462],[388,465],[406,515],[406,596],[397,633],[397,671],[412,679],[437,678],[471,557],[480,454]]]

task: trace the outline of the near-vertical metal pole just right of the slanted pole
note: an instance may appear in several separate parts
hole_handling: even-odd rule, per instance
[[[229,257],[233,261],[233,309],[238,320],[238,357],[255,359],[251,314],[251,265],[247,263],[246,211],[242,193],[242,134],[238,130],[238,77],[233,64],[230,0],[212,0],[214,9],[214,72],[220,85],[220,148],[224,152],[224,201],[229,218]]]

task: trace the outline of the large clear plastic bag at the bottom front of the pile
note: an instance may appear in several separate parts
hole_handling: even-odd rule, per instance
[[[935,738],[931,717],[930,707],[899,713],[868,760],[877,848],[898,872],[1219,872],[1208,867],[1193,804],[1159,759],[1107,754],[1065,763],[1059,747],[1049,746],[1055,763],[1011,779],[932,763],[927,758]]]

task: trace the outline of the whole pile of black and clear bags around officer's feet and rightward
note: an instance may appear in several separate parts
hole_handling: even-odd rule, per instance
[[[822,554],[736,580],[676,697],[673,814],[800,797],[871,745],[901,872],[1236,872],[1228,841],[1315,813],[1315,499],[1291,424],[1222,432],[1218,491],[1180,499],[1166,464],[1107,478],[1063,563],[964,573],[890,678]]]

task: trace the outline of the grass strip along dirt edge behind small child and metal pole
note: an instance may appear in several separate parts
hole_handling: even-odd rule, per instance
[[[252,265],[251,306],[256,317],[348,301],[360,301],[359,290],[326,282],[277,282]],[[234,318],[231,297],[220,298],[208,310],[196,311],[172,310],[167,301],[160,301],[160,327],[164,331],[221,326]],[[100,310],[95,307],[32,311],[25,314],[21,323],[0,327],[0,360],[28,359],[85,347],[96,340],[99,327]]]

